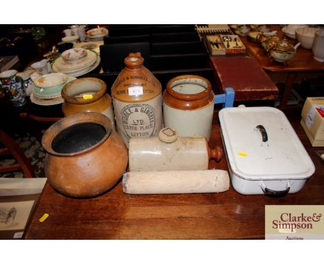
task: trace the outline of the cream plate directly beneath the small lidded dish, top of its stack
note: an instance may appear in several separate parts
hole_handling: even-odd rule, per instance
[[[66,63],[62,57],[58,57],[55,59],[55,62],[53,62],[52,68],[55,73],[72,73],[73,71],[87,68],[95,63],[98,57],[97,53],[93,50],[87,50],[87,53],[88,55],[85,59],[81,59],[80,62],[77,61],[73,64]]]

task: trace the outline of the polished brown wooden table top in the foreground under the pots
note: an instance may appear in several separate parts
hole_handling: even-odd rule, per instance
[[[215,116],[215,115],[214,115]],[[217,115],[216,115],[217,116]],[[214,118],[210,146],[222,146]],[[316,172],[297,194],[244,196],[232,187],[220,194],[124,194],[121,182],[96,198],[73,199],[46,183],[26,239],[215,239],[264,238],[264,205],[323,205],[324,162],[309,143],[300,117],[291,120]],[[210,169],[227,169],[226,159]],[[49,214],[44,222],[39,222]]]

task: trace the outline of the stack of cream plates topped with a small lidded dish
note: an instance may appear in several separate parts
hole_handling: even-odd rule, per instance
[[[71,48],[64,51],[52,64],[54,73],[78,77],[91,72],[100,64],[100,56],[93,50]]]

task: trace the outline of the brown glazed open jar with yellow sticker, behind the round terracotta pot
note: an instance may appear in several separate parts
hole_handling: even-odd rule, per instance
[[[101,79],[84,77],[75,79],[62,88],[62,111],[64,116],[78,112],[97,112],[106,115],[115,129],[114,111],[107,86]]]

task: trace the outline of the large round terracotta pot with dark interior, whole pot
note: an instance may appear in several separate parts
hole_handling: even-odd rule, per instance
[[[102,194],[123,176],[127,149],[100,113],[76,113],[53,124],[42,138],[51,186],[72,197]]]

